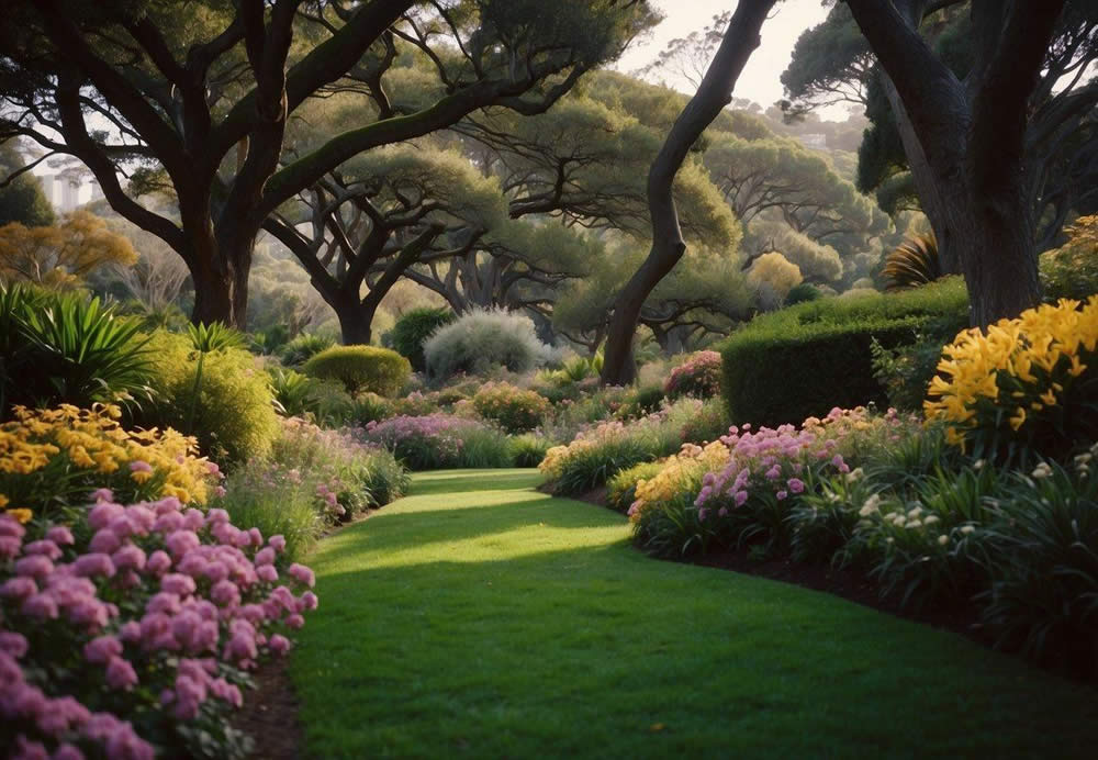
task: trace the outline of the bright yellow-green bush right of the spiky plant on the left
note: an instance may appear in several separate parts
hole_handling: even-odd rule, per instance
[[[248,351],[228,348],[205,355],[193,429],[186,429],[198,353],[186,336],[165,331],[154,333],[148,347],[156,357],[152,379],[156,403],[143,410],[143,423],[193,435],[202,454],[221,462],[270,451],[279,432],[270,379]]]

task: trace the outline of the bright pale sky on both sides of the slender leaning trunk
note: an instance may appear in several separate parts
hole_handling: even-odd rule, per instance
[[[621,71],[632,71],[649,63],[671,40],[685,37],[691,32],[701,31],[713,16],[736,8],[737,0],[652,0],[664,20],[651,36],[636,43],[618,62]],[[809,26],[815,26],[827,15],[828,9],[820,0],[785,0],[762,26],[762,44],[751,55],[747,68],[736,82],[732,93],[736,98],[749,98],[763,108],[781,100],[782,71],[793,55],[797,37]],[[668,82],[675,86],[674,82]],[[825,119],[844,119],[843,109],[838,113],[821,114]]]

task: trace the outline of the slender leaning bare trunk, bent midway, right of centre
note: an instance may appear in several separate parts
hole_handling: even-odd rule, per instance
[[[648,208],[652,219],[652,248],[614,302],[606,333],[602,383],[626,385],[637,377],[632,338],[637,320],[652,289],[686,253],[673,186],[686,154],[714,119],[732,100],[732,88],[751,53],[759,46],[759,32],[776,0],[740,0],[717,54],[697,92],[675,120],[666,142],[648,174]]]

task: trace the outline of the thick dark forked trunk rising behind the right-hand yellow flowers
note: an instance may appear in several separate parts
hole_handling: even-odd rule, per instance
[[[1030,109],[1044,104],[1053,87],[1041,71],[1064,0],[975,0],[973,65],[963,80],[919,33],[925,0],[848,3],[888,77],[889,102],[904,114],[898,121],[910,125],[900,134],[912,172],[917,182],[929,176],[937,202],[928,216],[939,220],[934,233],[946,266],[955,260],[964,273],[973,324],[1019,314],[1041,295],[1032,179],[1040,172],[1030,141],[1031,127],[1043,134],[1054,123],[1031,118]],[[921,187],[919,194],[926,206]]]

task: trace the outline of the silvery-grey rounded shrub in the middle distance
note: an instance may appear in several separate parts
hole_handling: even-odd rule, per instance
[[[530,317],[503,309],[474,310],[440,327],[423,347],[427,373],[448,378],[461,372],[483,375],[505,367],[528,372],[552,357],[538,339]]]

